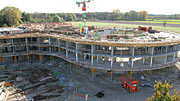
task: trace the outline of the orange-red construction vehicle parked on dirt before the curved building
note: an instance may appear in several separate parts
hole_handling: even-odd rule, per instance
[[[122,75],[120,77],[121,86],[128,90],[129,92],[138,92],[139,91],[139,84],[137,80],[131,80],[130,77],[127,75]]]

